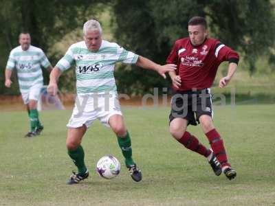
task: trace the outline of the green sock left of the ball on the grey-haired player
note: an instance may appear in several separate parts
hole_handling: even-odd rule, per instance
[[[85,173],[87,168],[84,163],[84,150],[82,146],[78,146],[76,150],[68,150],[68,155],[74,161],[74,164],[78,168],[78,173]]]

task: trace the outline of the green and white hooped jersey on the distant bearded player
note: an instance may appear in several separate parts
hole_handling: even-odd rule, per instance
[[[17,69],[20,91],[28,93],[30,87],[36,84],[43,85],[41,66],[49,67],[49,60],[42,49],[30,45],[26,51],[21,46],[12,49],[6,68]]]

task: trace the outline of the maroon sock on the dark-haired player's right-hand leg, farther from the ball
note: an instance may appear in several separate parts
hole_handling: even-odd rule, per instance
[[[221,136],[219,135],[217,130],[210,130],[208,133],[206,133],[206,137],[210,142],[210,146],[214,152],[214,155],[216,155],[219,163],[221,163],[221,167],[230,167],[230,163],[228,163],[228,157],[223,146],[223,139],[221,139]]]

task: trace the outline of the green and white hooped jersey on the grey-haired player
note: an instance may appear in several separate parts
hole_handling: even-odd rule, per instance
[[[113,71],[116,62],[135,64],[138,55],[126,51],[117,43],[103,41],[100,49],[90,51],[85,41],[69,47],[56,67],[65,71],[76,64],[76,91],[78,94],[107,93],[116,91]]]

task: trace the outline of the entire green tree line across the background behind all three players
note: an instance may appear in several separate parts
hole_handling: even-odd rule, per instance
[[[177,38],[188,36],[187,24],[192,16],[204,16],[210,36],[219,38],[241,54],[250,74],[255,62],[266,56],[275,62],[274,2],[268,0],[0,0],[0,93],[18,94],[18,84],[4,87],[5,64],[10,50],[18,45],[18,35],[30,32],[32,45],[41,47],[54,66],[63,56],[48,52],[53,45],[83,23],[108,11],[108,28],[118,44],[137,54],[164,64]],[[107,10],[106,10],[107,9]],[[102,16],[102,15],[101,15]],[[100,21],[104,21],[99,19]],[[104,30],[103,30],[104,32]],[[64,45],[69,47],[69,45]],[[73,70],[73,69],[72,69]],[[59,82],[61,90],[74,91],[74,72],[67,71]],[[45,76],[45,84],[48,75]],[[137,69],[135,65],[118,65],[115,70],[118,90],[128,94],[151,92],[153,87],[169,87],[157,73]],[[14,77],[16,75],[14,74]],[[15,81],[16,82],[16,81]]]

